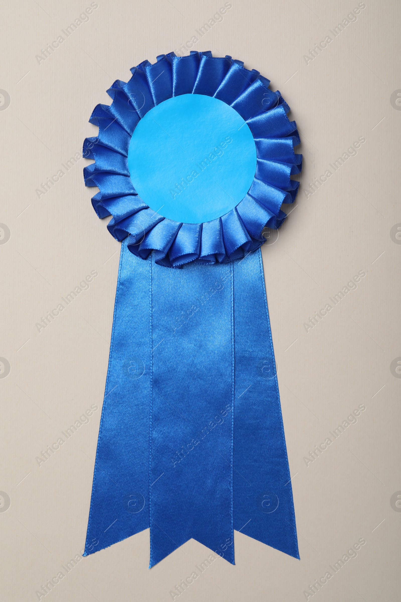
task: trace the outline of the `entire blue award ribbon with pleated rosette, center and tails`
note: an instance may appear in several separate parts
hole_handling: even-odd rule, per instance
[[[234,563],[234,530],[299,558],[260,253],[298,191],[296,124],[229,56],[131,72],[83,149],[121,241],[85,555],[150,528],[150,566],[191,538]]]

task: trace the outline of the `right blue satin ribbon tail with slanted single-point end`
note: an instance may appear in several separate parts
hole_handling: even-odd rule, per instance
[[[234,529],[299,559],[260,249],[234,266]]]

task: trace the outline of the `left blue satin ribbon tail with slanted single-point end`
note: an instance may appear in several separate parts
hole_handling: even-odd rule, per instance
[[[84,556],[149,527],[150,262],[121,245]]]

